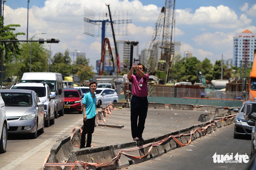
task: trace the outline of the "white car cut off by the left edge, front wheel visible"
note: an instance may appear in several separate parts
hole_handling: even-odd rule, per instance
[[[8,136],[8,123],[5,113],[5,102],[0,94],[0,153],[6,152],[7,136]]]

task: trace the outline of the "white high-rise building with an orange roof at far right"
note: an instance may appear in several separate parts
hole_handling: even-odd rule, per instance
[[[253,62],[254,49],[256,49],[256,38],[250,30],[245,30],[234,37],[233,66],[239,67],[242,63]]]

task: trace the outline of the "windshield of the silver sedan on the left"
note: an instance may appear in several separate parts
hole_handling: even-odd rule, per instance
[[[29,93],[1,92],[6,106],[32,106],[32,96]]]

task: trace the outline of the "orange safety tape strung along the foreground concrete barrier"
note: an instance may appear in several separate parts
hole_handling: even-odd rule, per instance
[[[176,143],[178,143],[178,145],[180,145],[181,147],[183,146],[186,146],[186,145],[189,145],[189,143],[191,143],[191,137],[193,134],[195,134],[196,132],[203,132],[205,131],[209,126],[214,126],[215,123],[217,123],[218,121],[223,121],[223,120],[227,120],[227,119],[233,119],[234,117],[236,117],[236,115],[230,115],[230,116],[225,116],[225,117],[222,117],[221,119],[219,120],[214,120],[213,123],[211,123],[210,121],[210,124],[205,126],[205,127],[198,127],[196,130],[194,131],[190,131],[190,133],[188,134],[179,134],[179,135],[170,135],[168,138],[166,139],[162,139],[160,141],[157,141],[157,142],[153,142],[153,143],[148,143],[148,144],[145,144],[145,145],[142,145],[142,146],[139,146],[139,147],[135,147],[135,148],[129,148],[129,149],[121,149],[119,151],[119,153],[110,161],[108,162],[104,162],[104,163],[88,163],[88,162],[83,162],[83,161],[75,161],[73,163],[44,163],[43,167],[44,166],[54,166],[54,167],[59,167],[59,166],[70,166],[72,167],[71,170],[74,169],[75,166],[83,166],[85,167],[85,169],[88,169],[87,165],[91,165],[91,166],[95,166],[95,167],[103,167],[103,166],[108,166],[108,165],[111,165],[112,163],[114,163],[116,160],[120,161],[119,160],[119,157],[121,156],[121,154],[123,155],[127,155],[127,156],[130,156],[130,157],[134,157],[134,158],[142,158],[144,156],[147,156],[149,154],[149,152],[151,151],[151,149],[154,147],[154,146],[159,146],[161,145],[163,142],[169,140],[170,138],[173,138],[174,141]],[[75,128],[73,129],[72,133],[74,132]],[[177,138],[180,138],[181,136],[190,136],[190,139],[189,141],[187,141],[186,143],[181,143],[180,141],[178,141]],[[73,135],[72,135],[73,136]],[[142,149],[142,148],[146,148],[146,147],[150,147],[148,149],[148,152],[145,154],[145,155],[142,155],[142,156],[133,156],[133,155],[130,155],[128,154],[127,152],[129,151],[134,151],[134,150],[139,150],[139,149]],[[49,156],[49,155],[48,155]],[[47,157],[48,158],[48,157]],[[46,161],[45,161],[46,162]]]

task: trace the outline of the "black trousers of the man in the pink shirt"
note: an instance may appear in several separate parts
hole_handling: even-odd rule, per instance
[[[131,130],[133,138],[142,138],[147,112],[148,98],[133,96],[131,99]]]

